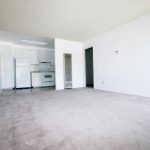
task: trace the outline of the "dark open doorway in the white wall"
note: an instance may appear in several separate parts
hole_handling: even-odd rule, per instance
[[[94,87],[93,47],[85,50],[86,87]]]

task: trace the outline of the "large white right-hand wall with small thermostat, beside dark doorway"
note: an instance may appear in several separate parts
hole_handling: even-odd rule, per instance
[[[96,89],[150,96],[150,14],[84,45],[91,46]]]

